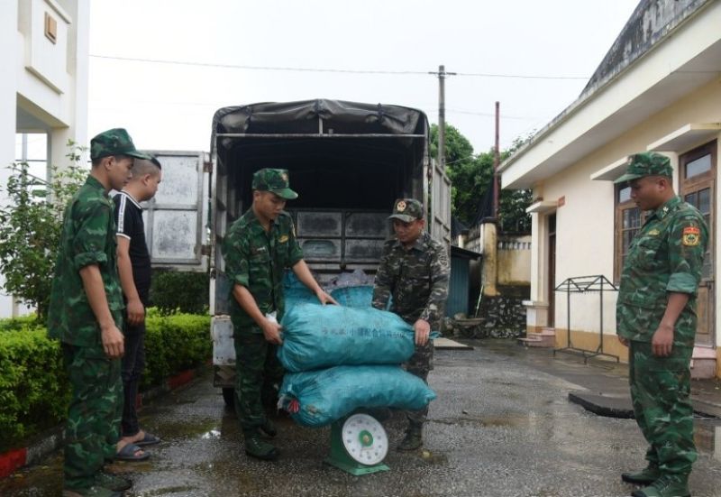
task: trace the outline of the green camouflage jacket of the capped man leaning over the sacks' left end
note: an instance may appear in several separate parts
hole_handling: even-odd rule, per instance
[[[251,292],[263,314],[277,310],[280,322],[285,310],[283,273],[303,259],[290,216],[281,213],[266,233],[250,208],[231,225],[222,248],[225,273],[231,283],[229,299],[233,326],[251,327],[252,332],[261,333],[260,327],[233,297],[236,284]]]

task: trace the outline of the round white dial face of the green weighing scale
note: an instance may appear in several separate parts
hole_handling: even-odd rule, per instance
[[[378,465],[388,454],[386,430],[368,414],[353,414],[345,420],[342,443],[348,455],[362,465]]]

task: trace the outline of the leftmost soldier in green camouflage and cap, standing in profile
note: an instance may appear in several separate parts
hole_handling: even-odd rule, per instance
[[[135,150],[113,129],[91,141],[93,167],[65,209],[50,291],[48,336],[59,339],[72,387],[66,427],[64,495],[120,495],[123,478],[102,472],[115,454],[123,410],[123,293],[117,272],[110,189],[131,177]]]

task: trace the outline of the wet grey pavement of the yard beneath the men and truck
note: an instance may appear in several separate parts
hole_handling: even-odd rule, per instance
[[[602,384],[625,388],[614,364],[553,359],[507,341],[468,341],[474,350],[439,350],[430,383],[438,393],[425,450],[393,448],[387,473],[351,476],[323,464],[330,428],[278,419],[278,461],[252,460],[232,411],[210,375],[141,411],[163,442],[144,463],[116,463],[132,478],[129,496],[609,496],[629,495],[622,471],[643,465],[644,442],[633,419],[597,416],[568,400]],[[398,413],[384,422],[393,446]],[[698,419],[695,496],[721,495],[721,421]],[[59,495],[61,456],[0,481],[0,495]]]

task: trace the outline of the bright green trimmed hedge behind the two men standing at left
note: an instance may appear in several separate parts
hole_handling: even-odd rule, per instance
[[[209,316],[150,309],[146,325],[141,390],[211,356]],[[61,422],[69,395],[59,342],[32,318],[0,320],[0,452]]]

